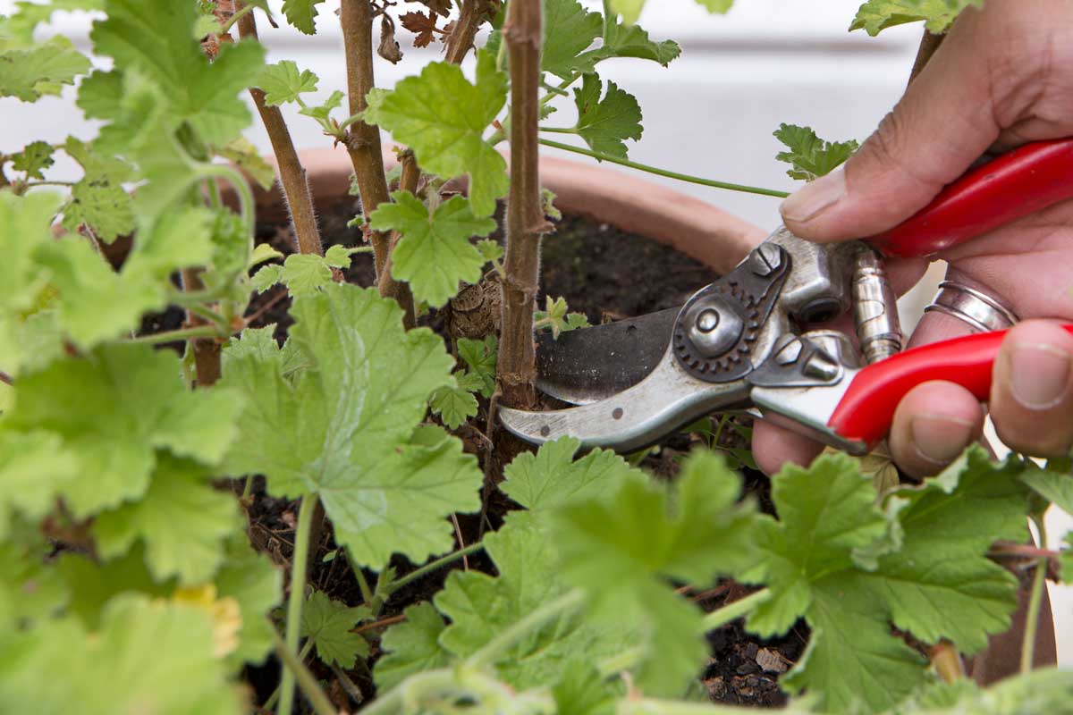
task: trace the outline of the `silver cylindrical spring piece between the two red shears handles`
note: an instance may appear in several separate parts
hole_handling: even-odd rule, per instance
[[[862,245],[853,265],[853,318],[865,362],[872,363],[901,352],[898,303],[873,249]]]

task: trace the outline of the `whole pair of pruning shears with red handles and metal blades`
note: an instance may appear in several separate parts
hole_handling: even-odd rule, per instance
[[[986,400],[1005,334],[899,352],[883,255],[932,255],[1070,197],[1073,138],[1029,144],[978,166],[867,241],[817,244],[780,226],[681,308],[543,341],[538,387],[574,406],[502,407],[499,418],[531,443],[569,435],[628,452],[711,412],[745,409],[866,453],[921,383],[954,382]],[[857,345],[841,332],[800,329],[850,310]]]

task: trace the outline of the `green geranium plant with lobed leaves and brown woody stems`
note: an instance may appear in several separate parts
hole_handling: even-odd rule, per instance
[[[100,131],[0,155],[0,710],[703,715],[733,710],[695,687],[705,635],[730,624],[760,638],[807,626],[781,667],[790,712],[1068,709],[1073,676],[1031,665],[1044,578],[1068,576],[1069,554],[1023,546],[1029,518],[1073,508],[1067,462],[973,448],[922,485],[878,489],[826,456],[775,476],[762,512],[704,446],[666,479],[640,457],[569,438],[532,452],[496,430],[497,404],[539,405],[534,330],[585,324],[561,299],[535,302],[558,218],[540,145],[651,168],[628,159],[637,101],[599,74],[679,55],[635,24],[642,4],[342,0],[336,17],[285,0],[271,17],[263,0],[15,3],[0,96],[76,85]],[[967,4],[869,0],[853,27],[940,32]],[[34,39],[69,10],[95,13],[98,64]],[[315,103],[315,75],[266,64],[266,21],[338,23],[344,90]],[[374,68],[408,42],[444,58],[378,87]],[[258,120],[245,92],[275,167],[242,138]],[[354,245],[322,245],[284,104],[350,157]],[[776,135],[803,179],[855,148]],[[58,153],[79,179],[50,178]],[[277,178],[285,259],[254,240],[249,182]],[[487,238],[504,198],[505,251]],[[370,252],[374,284],[344,282]],[[429,327],[489,281],[498,330]],[[258,327],[258,296],[278,284],[285,342]],[[180,327],[145,321],[168,308]],[[691,429],[718,448],[745,429],[726,424]],[[464,528],[465,515],[484,518]],[[325,564],[333,579],[313,583]],[[1023,674],[981,689],[959,654],[1010,627],[1018,579],[1003,565],[1031,581]]]

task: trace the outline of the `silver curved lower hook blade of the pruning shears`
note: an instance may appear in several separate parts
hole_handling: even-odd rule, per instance
[[[586,448],[630,452],[655,444],[709,412],[741,403],[748,396],[745,381],[695,379],[667,351],[641,383],[605,400],[553,412],[501,407],[499,419],[513,434],[533,444],[572,436]]]

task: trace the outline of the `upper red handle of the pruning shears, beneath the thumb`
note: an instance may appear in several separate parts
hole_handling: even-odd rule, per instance
[[[1067,198],[1073,198],[1073,138],[1034,141],[969,170],[868,242],[891,256],[931,255]]]

